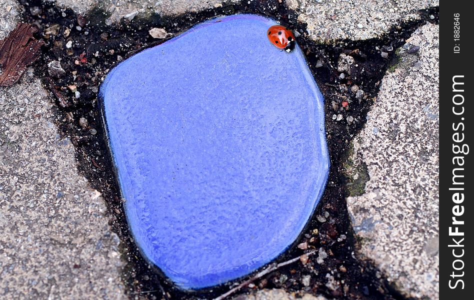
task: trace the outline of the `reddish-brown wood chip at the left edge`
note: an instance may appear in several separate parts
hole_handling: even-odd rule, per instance
[[[0,86],[18,81],[26,66],[38,58],[38,50],[44,42],[33,37],[36,30],[31,24],[18,23],[0,40]]]

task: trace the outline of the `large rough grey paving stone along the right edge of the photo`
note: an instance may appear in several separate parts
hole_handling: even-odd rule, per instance
[[[438,32],[423,25],[398,50],[346,163],[351,182],[369,176],[347,199],[359,254],[403,295],[429,299],[439,297]]]

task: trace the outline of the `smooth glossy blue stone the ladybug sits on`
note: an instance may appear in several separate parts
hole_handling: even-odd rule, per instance
[[[131,232],[181,288],[274,259],[322,194],[323,98],[299,47],[270,44],[273,24],[206,21],[121,62],[101,86]]]

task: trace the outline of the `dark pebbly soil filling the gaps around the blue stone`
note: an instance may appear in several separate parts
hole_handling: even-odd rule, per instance
[[[79,171],[89,179],[94,188],[102,192],[111,215],[112,228],[121,238],[122,257],[127,262],[122,280],[130,298],[213,298],[246,278],[210,290],[188,293],[174,287],[141,257],[128,231],[111,158],[104,141],[96,99],[98,86],[119,59],[125,59],[131,53],[156,43],[148,34],[151,27],[165,27],[175,36],[207,18],[239,12],[268,15],[280,20],[293,31],[300,32],[297,42],[325,97],[325,125],[331,168],[324,195],[312,219],[299,239],[276,261],[285,261],[320,248],[327,253],[327,258],[319,264],[316,262],[316,253],[309,256],[305,264],[298,260],[255,280],[253,285],[242,288],[235,295],[249,293],[254,289],[283,288],[294,292],[296,296],[312,293],[342,299],[401,298],[388,286],[384,274],[369,261],[354,256],[357,242],[346,209],[347,190],[342,164],[347,156],[350,140],[365,122],[366,112],[377,95],[383,74],[396,61],[395,49],[404,44],[414,29],[426,20],[437,22],[437,9],[421,11],[423,20],[402,24],[401,29],[394,28],[383,38],[341,40],[333,45],[325,45],[309,40],[305,24],[298,23],[296,14],[288,11],[277,0],[257,0],[248,5],[224,5],[177,17],[153,15],[149,19],[135,18],[113,26],[105,24],[106,15],[100,10],[80,16],[71,10],[61,10],[51,2],[20,2],[24,7],[24,21],[35,24],[39,29],[36,37],[45,42],[42,54],[33,67],[36,75],[43,78],[43,83],[56,99],[62,119],[57,125],[76,148]],[[40,7],[38,14],[31,14],[30,7],[33,6]],[[435,15],[435,19],[430,20],[429,14]],[[77,25],[81,26],[81,30],[76,29]],[[64,35],[66,28],[70,30],[68,36]],[[73,41],[72,47],[66,48],[69,40]],[[388,52],[388,57],[382,58],[376,47]],[[351,55],[355,60],[351,75],[346,73],[343,79],[337,71],[340,53]],[[47,63],[51,60],[60,60],[65,73],[59,77],[50,76]],[[318,60],[323,63],[320,67],[316,67]],[[350,89],[354,84],[364,91],[361,99],[356,98]],[[75,85],[75,88],[71,85]],[[75,97],[75,89],[80,93],[78,98]],[[347,102],[345,107],[342,101]],[[341,114],[342,119],[333,120],[333,114]],[[346,120],[349,116],[354,118],[350,124]],[[81,117],[87,120],[87,124],[79,124]],[[320,216],[324,216],[326,220],[318,221],[318,216],[320,220]],[[307,242],[308,249],[296,246],[302,242]],[[302,283],[305,275],[311,275],[309,286]]]

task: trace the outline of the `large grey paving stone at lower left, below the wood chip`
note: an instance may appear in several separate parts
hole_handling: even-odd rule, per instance
[[[0,298],[120,299],[119,238],[31,69],[0,87]]]

